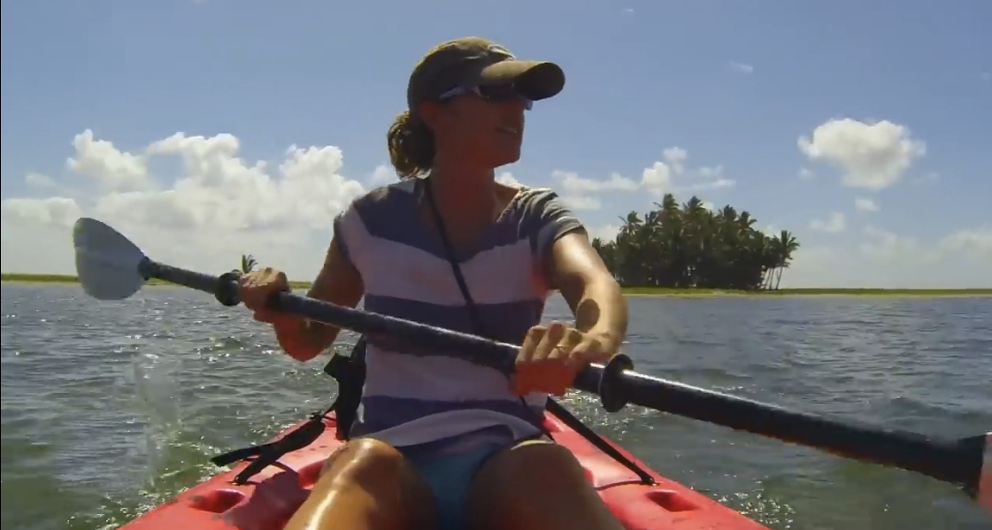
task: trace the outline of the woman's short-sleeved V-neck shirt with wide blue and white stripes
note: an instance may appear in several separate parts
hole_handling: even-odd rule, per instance
[[[444,246],[421,221],[425,184],[409,179],[352,201],[334,218],[339,249],[362,277],[366,311],[474,333]],[[559,237],[582,229],[555,192],[524,187],[482,236],[477,250],[459,256],[490,338],[520,344],[540,324],[551,295],[542,262]],[[508,442],[540,433],[536,423],[543,418],[547,394],[521,400],[495,369],[452,357],[405,354],[398,348],[414,351],[417,344],[380,344],[368,338],[354,438],[410,447],[443,444],[469,433]]]

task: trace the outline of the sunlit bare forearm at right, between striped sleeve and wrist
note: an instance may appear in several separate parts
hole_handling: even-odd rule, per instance
[[[555,241],[548,263],[552,286],[561,292],[575,315],[575,328],[592,334],[603,345],[605,362],[627,334],[627,299],[613,274],[589,243],[584,230],[568,232]]]

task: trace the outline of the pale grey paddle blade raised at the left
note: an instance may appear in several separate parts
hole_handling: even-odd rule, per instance
[[[127,237],[89,217],[72,227],[75,272],[82,290],[97,300],[123,300],[145,285],[140,266],[145,254]]]

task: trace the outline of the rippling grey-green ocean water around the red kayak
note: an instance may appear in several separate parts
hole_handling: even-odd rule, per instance
[[[315,359],[181,288],[97,302],[2,287],[2,527],[116,528],[329,404]],[[990,298],[632,298],[637,370],[926,434],[992,431]],[[566,318],[553,299],[546,319]],[[353,340],[353,336],[345,337]],[[347,347],[342,346],[342,347]],[[776,530],[992,529],[953,486],[587,395],[564,403],[663,474]]]

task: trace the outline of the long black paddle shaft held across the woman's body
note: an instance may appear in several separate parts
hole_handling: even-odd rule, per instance
[[[236,306],[237,273],[210,276],[146,259],[139,266],[146,279],[158,278],[213,294],[224,305]],[[273,309],[365,334],[370,341],[418,344],[418,350],[448,355],[512,373],[518,346],[458,331],[345,308],[292,293],[280,293]],[[626,358],[626,357],[624,357]],[[957,484],[977,495],[985,453],[985,437],[934,440],[916,433],[840,422],[643,375],[623,362],[589,364],[572,387],[603,399],[611,412],[626,403],[700,420],[783,442],[824,450],[855,460],[917,471]]]

